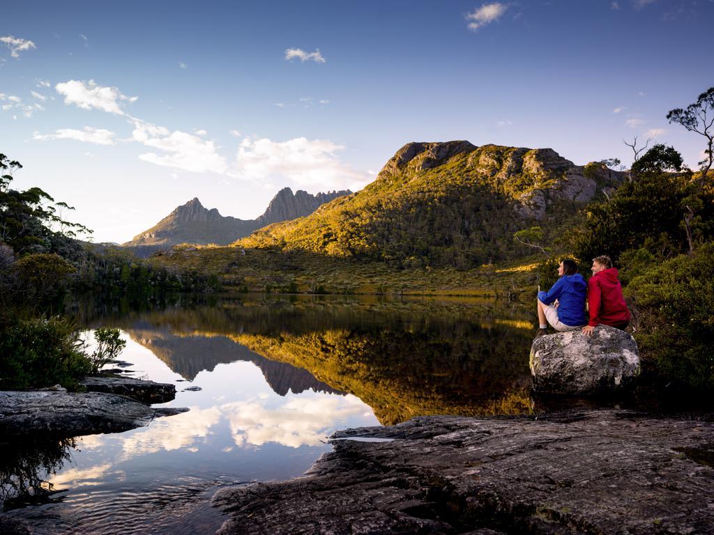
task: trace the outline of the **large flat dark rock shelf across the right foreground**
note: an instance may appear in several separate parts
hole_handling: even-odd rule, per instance
[[[712,418],[420,417],[338,432],[304,477],[219,490],[219,534],[687,534],[714,526]]]

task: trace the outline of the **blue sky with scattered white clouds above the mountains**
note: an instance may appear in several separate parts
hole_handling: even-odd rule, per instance
[[[0,153],[131,240],[198,197],[252,219],[283,187],[371,182],[411,141],[695,168],[665,119],[714,86],[714,0],[4,1]]]

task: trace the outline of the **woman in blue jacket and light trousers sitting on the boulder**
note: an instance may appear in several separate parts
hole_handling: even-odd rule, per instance
[[[578,273],[575,260],[563,260],[558,275],[560,278],[548,292],[538,292],[538,335],[548,332],[548,323],[556,331],[575,330],[588,323],[585,314],[588,283]]]

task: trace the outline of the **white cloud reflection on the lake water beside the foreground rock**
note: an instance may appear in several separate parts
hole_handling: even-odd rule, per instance
[[[262,446],[277,442],[298,448],[316,446],[340,422],[364,412],[364,404],[352,395],[289,399],[268,408],[259,401],[223,405],[237,446]]]

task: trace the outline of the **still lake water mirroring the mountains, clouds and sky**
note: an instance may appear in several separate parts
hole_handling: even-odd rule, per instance
[[[210,297],[76,303],[132,377],[190,407],[116,434],[0,445],[4,509],[46,533],[213,533],[220,486],[289,479],[335,429],[529,414],[527,313],[476,300]],[[36,492],[51,489],[51,494]]]

